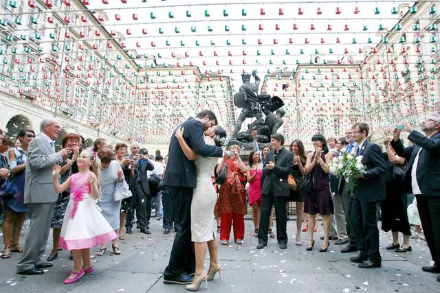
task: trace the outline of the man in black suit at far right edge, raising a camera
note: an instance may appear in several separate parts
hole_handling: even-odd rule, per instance
[[[410,124],[401,123],[413,146],[404,148],[400,131],[393,131],[391,141],[396,154],[408,161],[402,180],[404,192],[415,194],[421,226],[431,252],[433,266],[423,266],[425,272],[440,272],[440,113],[432,113],[421,123],[426,134],[412,130]],[[440,282],[440,277],[437,278]]]

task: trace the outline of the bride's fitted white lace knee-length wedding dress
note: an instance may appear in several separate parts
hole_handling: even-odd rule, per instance
[[[215,145],[214,140],[205,137],[207,145]],[[214,206],[217,194],[212,186],[211,176],[219,158],[199,156],[195,159],[197,186],[191,202],[191,239],[193,242],[208,242],[217,236]]]

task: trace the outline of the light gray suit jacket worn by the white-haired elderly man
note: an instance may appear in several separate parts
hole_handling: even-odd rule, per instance
[[[25,204],[56,202],[58,195],[52,185],[52,170],[61,162],[63,156],[54,152],[41,134],[32,139],[26,159]]]

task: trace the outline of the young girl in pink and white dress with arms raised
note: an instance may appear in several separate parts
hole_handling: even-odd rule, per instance
[[[70,200],[61,228],[60,246],[64,250],[72,250],[74,269],[65,284],[78,281],[84,274],[91,274],[90,248],[109,242],[116,235],[110,224],[100,213],[96,201],[100,197],[99,180],[94,172],[98,172],[94,154],[89,150],[81,152],[76,160],[79,172],[70,176],[65,183],[58,183],[61,167],[56,165],[52,172],[52,181],[56,193],[70,187]],[[91,172],[93,171],[93,172]]]

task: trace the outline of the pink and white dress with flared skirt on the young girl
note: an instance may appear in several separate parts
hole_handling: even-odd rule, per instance
[[[91,197],[87,182],[90,174],[91,172],[72,175],[70,200],[64,215],[59,244],[65,250],[90,248],[118,237]]]

